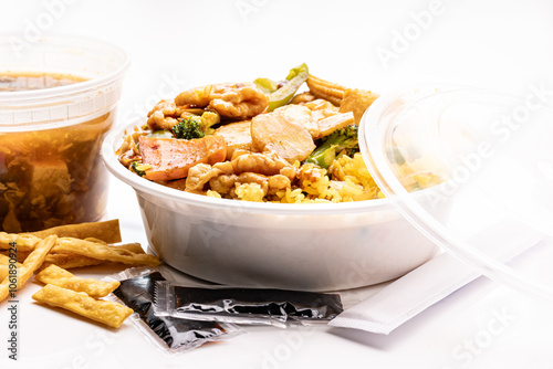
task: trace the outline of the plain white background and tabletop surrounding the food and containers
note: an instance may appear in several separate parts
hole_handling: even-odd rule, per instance
[[[239,6],[243,11],[239,11]],[[553,89],[549,1],[2,1],[0,31],[93,35],[133,60],[119,124],[181,88],[258,76],[281,78],[305,62],[313,74],[384,92],[407,83],[458,82]],[[434,11],[431,18],[422,15]],[[247,13],[244,13],[244,11]],[[415,19],[424,25],[417,28]],[[410,40],[398,41],[398,33]],[[27,40],[27,41],[25,41]],[[383,63],[383,53],[394,57]],[[109,215],[125,241],[145,243],[133,191],[113,181]],[[91,275],[113,271],[87,270]],[[219,345],[166,357],[131,324],[118,330],[19,294],[19,358],[8,360],[8,305],[0,304],[1,368],[550,368],[551,310],[483,278],[389,336],[351,329],[248,328]]]

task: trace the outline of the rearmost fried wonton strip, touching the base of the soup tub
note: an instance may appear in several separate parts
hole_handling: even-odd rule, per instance
[[[121,242],[119,221],[117,219],[105,222],[91,222],[80,224],[69,224],[50,228],[44,231],[31,232],[31,235],[44,239],[55,234],[59,238],[88,239],[94,238],[105,243]]]

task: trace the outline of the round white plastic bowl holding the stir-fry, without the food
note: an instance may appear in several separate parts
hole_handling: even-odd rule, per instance
[[[150,182],[127,170],[115,155],[125,130],[139,124],[109,133],[102,156],[109,171],[136,191],[152,250],[189,275],[251,287],[348,289],[396,278],[437,251],[388,199],[258,203]],[[435,192],[416,196],[431,201]]]

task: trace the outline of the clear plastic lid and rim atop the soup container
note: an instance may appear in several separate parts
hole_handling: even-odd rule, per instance
[[[0,133],[76,125],[115,108],[129,65],[108,42],[83,36],[44,36],[21,43],[0,34],[0,76],[59,74],[86,80],[63,86],[0,91]]]

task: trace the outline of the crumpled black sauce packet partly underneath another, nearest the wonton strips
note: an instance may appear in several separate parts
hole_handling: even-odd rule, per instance
[[[169,354],[187,351],[209,341],[218,341],[237,334],[239,327],[218,321],[194,320],[171,316],[158,316],[154,310],[156,282],[166,281],[157,271],[131,268],[112,280],[121,285],[112,298],[131,307],[131,317],[138,330],[146,334]]]

